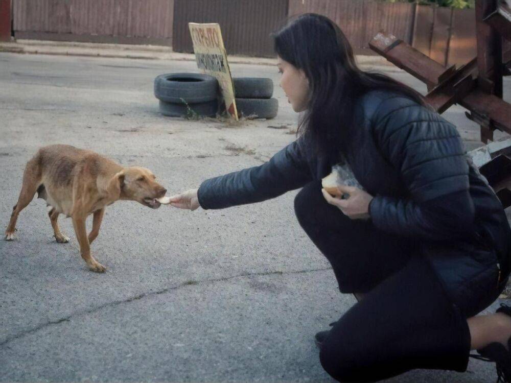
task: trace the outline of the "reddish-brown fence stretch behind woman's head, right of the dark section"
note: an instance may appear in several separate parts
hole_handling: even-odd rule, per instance
[[[442,65],[465,64],[476,56],[473,9],[353,0],[289,0],[289,16],[306,12],[330,17],[358,54],[373,54],[368,42],[380,31],[416,47]]]

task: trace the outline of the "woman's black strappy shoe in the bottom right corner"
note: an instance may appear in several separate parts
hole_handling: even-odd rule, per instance
[[[497,313],[504,313],[511,317],[511,306],[500,304]],[[497,368],[497,383],[511,383],[511,338],[507,341],[509,351],[498,342],[490,343],[477,352],[479,355],[471,354],[473,358],[486,362],[495,362]]]

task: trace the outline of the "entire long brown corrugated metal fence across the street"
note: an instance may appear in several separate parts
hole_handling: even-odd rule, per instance
[[[358,54],[381,30],[434,60],[476,54],[474,10],[370,0],[13,0],[14,35],[66,41],[172,45],[192,52],[188,22],[219,22],[229,54],[273,56],[270,33],[313,12],[333,19]]]

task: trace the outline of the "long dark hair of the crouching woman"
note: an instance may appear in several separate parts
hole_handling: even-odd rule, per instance
[[[425,105],[419,92],[385,75],[357,67],[353,49],[340,28],[328,17],[299,16],[273,34],[275,52],[303,69],[309,80],[308,109],[298,123],[298,135],[307,134],[317,152],[338,156],[349,141],[356,100],[368,90],[387,89]]]

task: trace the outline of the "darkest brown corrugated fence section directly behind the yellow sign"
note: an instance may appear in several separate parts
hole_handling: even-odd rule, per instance
[[[288,0],[175,0],[173,49],[193,52],[189,22],[218,22],[228,54],[272,57],[270,33],[285,25]]]

